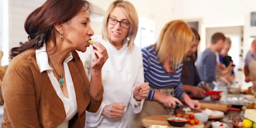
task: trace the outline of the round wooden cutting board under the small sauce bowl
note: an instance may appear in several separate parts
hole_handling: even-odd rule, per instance
[[[168,117],[175,117],[175,116],[174,115],[155,115],[155,116],[145,117],[144,119],[142,119],[142,125],[144,127],[149,127],[150,125],[168,125],[169,128],[173,128],[174,126],[171,126],[167,121]],[[204,127],[204,124],[203,122],[199,122],[199,124],[197,125],[185,124],[183,127],[200,128],[200,127]]]

